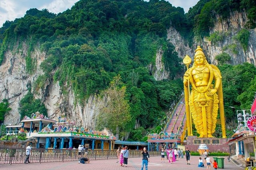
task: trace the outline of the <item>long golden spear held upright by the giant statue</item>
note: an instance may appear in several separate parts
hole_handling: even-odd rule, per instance
[[[191,62],[192,62],[191,58],[190,58],[188,55],[186,55],[186,56],[184,57],[184,59],[183,59],[183,63],[186,65],[187,71],[188,71],[188,66],[189,66],[189,64],[191,64]],[[187,125],[188,125],[188,127],[190,127],[190,132],[188,132],[188,134],[189,134],[190,136],[193,136],[193,133],[192,133],[192,117],[191,117],[191,109],[190,109],[190,87],[189,87],[189,79],[190,79],[190,75],[188,75],[188,105],[186,104],[186,107],[189,106],[189,116],[187,116],[187,121],[188,121]],[[184,85],[184,88],[185,88],[185,85]],[[184,90],[184,96],[185,96],[185,97],[187,96],[187,95],[186,95],[186,90]],[[188,110],[188,109],[186,109],[186,110]]]

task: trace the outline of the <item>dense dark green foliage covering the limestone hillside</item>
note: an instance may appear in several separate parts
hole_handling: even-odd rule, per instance
[[[28,47],[26,73],[33,74],[38,68],[31,54],[35,49],[46,52],[46,59],[40,65],[44,74],[32,84],[32,92],[46,88],[47,80],[58,82],[64,95],[72,87],[75,102],[82,105],[90,95],[104,92],[113,78],[120,75],[126,87],[126,95],[122,98],[128,101],[131,114],[126,131],[131,132],[131,140],[142,140],[147,133],[145,129],[162,123],[165,111],[183,90],[184,66],[174,45],[166,41],[166,29],[174,27],[191,45],[194,37],[208,36],[214,42],[223,38],[209,35],[216,14],[227,18],[230,11],[245,10],[249,19],[246,28],[256,26],[254,1],[226,2],[200,0],[187,14],[164,0],[80,0],[59,14],[47,9],[30,9],[23,18],[6,21],[0,28],[0,63],[6,51],[19,53],[25,43]],[[249,35],[243,35],[248,35],[248,30],[240,32],[236,39],[246,49]],[[156,81],[148,66],[152,64],[154,68],[156,51],[160,49],[164,52],[162,61],[170,78]],[[217,59],[224,74],[227,118],[232,118],[234,114],[228,106],[245,108],[252,101],[248,89],[255,87],[255,67],[227,65],[230,56],[225,53]],[[245,82],[240,78],[252,81],[244,88]],[[23,117],[38,110],[47,114],[41,100],[34,99],[30,91],[20,102],[20,115]],[[136,126],[139,126],[137,130]]]

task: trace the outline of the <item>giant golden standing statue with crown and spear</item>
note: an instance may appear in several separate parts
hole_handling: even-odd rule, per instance
[[[213,137],[220,108],[222,137],[226,138],[220,70],[217,66],[207,62],[200,46],[196,49],[193,66],[188,68],[191,63],[188,55],[183,59],[183,63],[187,66],[183,83],[188,135],[193,135],[193,119],[199,137]]]

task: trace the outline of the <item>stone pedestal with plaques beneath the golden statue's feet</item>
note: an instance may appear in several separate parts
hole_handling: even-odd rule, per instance
[[[188,136],[186,139],[185,148],[188,147],[190,151],[198,152],[200,144],[206,144],[210,152],[230,152],[230,146],[226,142],[228,138],[198,138],[197,136]]]

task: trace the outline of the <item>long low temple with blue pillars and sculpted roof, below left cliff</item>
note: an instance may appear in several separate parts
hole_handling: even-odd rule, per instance
[[[36,148],[46,149],[77,149],[79,145],[87,146],[92,150],[112,150],[123,145],[138,149],[147,145],[147,143],[116,141],[116,137],[107,129],[103,131],[86,129],[78,127],[75,121],[69,121],[66,117],[59,117],[58,121],[55,121],[39,112],[33,113],[31,118],[25,116],[19,125],[6,126],[6,133],[7,135],[26,133],[27,138],[37,139]]]

